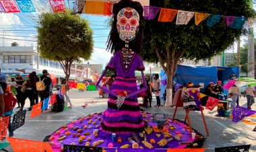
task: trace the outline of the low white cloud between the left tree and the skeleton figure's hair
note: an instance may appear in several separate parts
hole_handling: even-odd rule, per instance
[[[113,54],[103,48],[94,48],[94,52],[92,53],[90,61],[86,62],[89,62],[90,64],[106,65],[110,60],[111,56],[113,56]]]

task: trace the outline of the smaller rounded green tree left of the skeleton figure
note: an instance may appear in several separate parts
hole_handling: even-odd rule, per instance
[[[93,51],[92,29],[80,15],[42,13],[38,26],[38,49],[44,59],[58,61],[66,78],[74,61],[89,60]]]

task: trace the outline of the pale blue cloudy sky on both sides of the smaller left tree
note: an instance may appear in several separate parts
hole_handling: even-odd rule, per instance
[[[36,46],[36,20],[41,12],[52,12],[48,1],[32,0],[36,13],[0,13],[0,46],[11,46],[18,42],[20,46]],[[71,4],[66,6],[71,7]],[[110,29],[107,27],[109,17],[99,15],[86,15],[82,17],[90,22],[93,30],[94,52],[90,64],[106,65],[112,54],[106,51],[106,40]]]

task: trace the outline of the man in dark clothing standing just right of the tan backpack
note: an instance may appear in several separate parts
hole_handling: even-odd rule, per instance
[[[48,75],[47,70],[42,71],[42,76],[40,77],[40,81],[44,82],[45,89],[44,91],[39,91],[40,94],[40,100],[41,102],[44,101],[46,98],[49,98],[50,96],[50,85],[51,85],[51,78]]]

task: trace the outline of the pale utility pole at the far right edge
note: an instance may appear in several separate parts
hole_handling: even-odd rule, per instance
[[[253,8],[253,1],[251,1],[251,8]],[[248,77],[255,77],[255,61],[254,61],[254,35],[253,35],[253,25],[249,28],[250,34],[248,38],[248,65],[247,65],[247,75]]]

